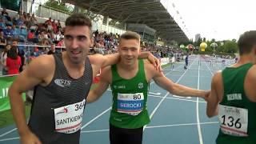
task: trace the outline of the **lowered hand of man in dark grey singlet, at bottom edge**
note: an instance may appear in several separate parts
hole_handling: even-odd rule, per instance
[[[42,144],[42,142],[40,142],[39,138],[32,132],[23,134],[21,136],[21,143],[22,144]]]

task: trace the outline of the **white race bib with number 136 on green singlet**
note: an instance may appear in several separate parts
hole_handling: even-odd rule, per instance
[[[248,110],[234,106],[220,105],[218,119],[223,134],[246,137],[248,126]]]

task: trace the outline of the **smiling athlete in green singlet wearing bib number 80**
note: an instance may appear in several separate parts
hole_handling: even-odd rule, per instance
[[[150,80],[181,96],[205,98],[204,90],[195,90],[179,85],[166,78],[150,62],[138,60],[140,36],[128,31],[119,39],[120,61],[102,69],[98,87],[90,91],[87,102],[94,102],[111,86],[113,105],[110,114],[111,144],[141,144],[143,126],[150,122],[146,102]]]

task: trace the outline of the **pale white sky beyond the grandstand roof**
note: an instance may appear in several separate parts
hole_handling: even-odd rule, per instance
[[[256,30],[255,0],[161,0],[188,38],[238,39]],[[174,3],[174,6],[173,6]],[[178,10],[178,13],[177,13]],[[184,23],[182,23],[184,22]]]

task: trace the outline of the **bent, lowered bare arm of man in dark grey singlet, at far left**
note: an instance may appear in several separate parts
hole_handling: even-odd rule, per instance
[[[40,56],[30,62],[27,67],[10,86],[9,97],[11,111],[18,127],[18,133],[21,135],[30,134],[30,130],[26,125],[24,104],[22,101],[22,93],[30,90],[34,86],[43,82],[44,78],[50,72],[52,66],[46,63],[46,56]]]

